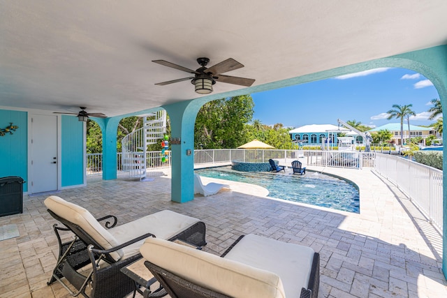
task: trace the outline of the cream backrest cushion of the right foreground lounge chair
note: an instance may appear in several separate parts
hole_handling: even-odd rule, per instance
[[[281,279],[270,271],[159,238],[147,238],[140,252],[149,262],[230,297],[285,298]]]

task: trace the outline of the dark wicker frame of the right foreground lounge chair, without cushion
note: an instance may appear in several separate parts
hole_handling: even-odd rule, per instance
[[[233,247],[244,237],[240,236],[222,255],[224,258]],[[183,297],[195,297],[195,298],[230,298],[214,290],[203,288],[200,285],[196,285],[191,281],[187,281],[172,272],[163,269],[152,262],[145,261],[145,266],[149,271],[154,274],[155,278],[163,286],[172,298]],[[309,283],[307,289],[302,288],[300,298],[317,298],[318,297],[318,285],[320,283],[320,255],[314,253],[314,259],[312,260],[312,270],[310,273]],[[228,285],[230,286],[230,285]]]

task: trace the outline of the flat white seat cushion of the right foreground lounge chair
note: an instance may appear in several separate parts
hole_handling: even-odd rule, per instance
[[[247,234],[225,258],[278,274],[286,296],[300,297],[309,283],[314,253],[308,246]]]

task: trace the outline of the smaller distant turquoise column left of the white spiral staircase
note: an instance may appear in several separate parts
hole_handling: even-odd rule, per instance
[[[103,180],[117,179],[117,129],[120,118],[95,119],[103,133]]]

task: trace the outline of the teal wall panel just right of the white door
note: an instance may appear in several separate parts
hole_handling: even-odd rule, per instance
[[[61,116],[61,186],[84,184],[84,123]]]

